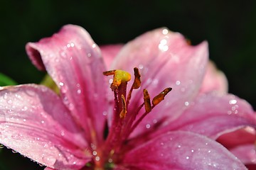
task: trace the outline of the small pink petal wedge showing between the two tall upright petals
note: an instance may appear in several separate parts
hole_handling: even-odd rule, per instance
[[[124,45],[102,45],[100,46],[100,50],[102,52],[102,57],[107,66],[107,70],[110,69],[110,65],[112,64],[114,57],[116,57],[117,53],[121,50]]]

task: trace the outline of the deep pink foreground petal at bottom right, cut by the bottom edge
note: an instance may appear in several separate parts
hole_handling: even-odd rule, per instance
[[[246,169],[239,159],[213,140],[191,132],[168,132],[124,155],[130,169]]]

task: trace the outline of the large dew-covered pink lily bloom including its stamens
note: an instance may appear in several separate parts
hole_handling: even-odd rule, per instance
[[[227,94],[207,42],[191,46],[159,28],[100,49],[68,25],[26,51],[60,94],[36,84],[0,87],[0,143],[47,170],[246,169],[245,153],[232,154],[221,137],[255,128],[255,113]]]

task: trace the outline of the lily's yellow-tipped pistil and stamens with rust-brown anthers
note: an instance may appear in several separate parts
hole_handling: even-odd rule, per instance
[[[114,93],[114,113],[112,115],[112,123],[108,130],[105,145],[101,148],[101,163],[96,164],[99,169],[106,168],[106,166],[113,166],[114,163],[117,163],[119,159],[121,159],[122,146],[127,142],[129,135],[137,128],[139,123],[142,122],[143,118],[148,115],[156,105],[163,101],[166,94],[171,91],[171,88],[166,88],[151,100],[149,92],[147,89],[144,89],[144,102],[137,109],[130,111],[128,108],[132,98],[132,91],[139,89],[141,86],[139,69],[134,68],[134,82],[129,90],[128,96],[127,82],[131,80],[131,74],[123,70],[111,70],[103,72],[103,74],[105,76],[112,75],[114,77],[110,85],[110,89],[112,89]],[[143,107],[145,111],[139,114]]]

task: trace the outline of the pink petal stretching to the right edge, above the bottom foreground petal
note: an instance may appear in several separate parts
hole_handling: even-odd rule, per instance
[[[256,127],[250,104],[233,95],[204,94],[187,107],[177,120],[159,131],[186,130],[217,139],[223,133],[245,126]]]

